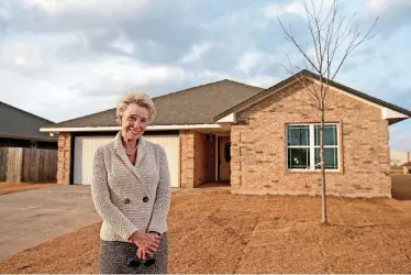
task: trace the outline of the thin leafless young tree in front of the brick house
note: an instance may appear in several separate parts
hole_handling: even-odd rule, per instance
[[[321,2],[320,2],[321,1]],[[371,38],[370,33],[376,25],[378,18],[366,32],[362,32],[354,25],[353,20],[355,13],[347,19],[346,15],[340,15],[338,0],[327,0],[332,2],[330,9],[323,12],[324,0],[315,0],[320,2],[315,7],[314,0],[303,0],[304,12],[307,15],[308,29],[310,32],[310,43],[306,47],[301,45],[291,26],[287,30],[281,20],[277,16],[279,24],[286,34],[286,40],[297,47],[298,53],[303,57],[304,69],[314,72],[319,75],[319,84],[304,78],[302,68],[291,65],[286,70],[295,75],[298,81],[308,89],[312,101],[302,101],[318,110],[320,117],[320,165],[321,165],[321,197],[322,197],[322,222],[327,222],[326,200],[325,200],[325,165],[324,165],[324,122],[325,111],[330,109],[325,99],[330,89],[331,81],[340,72],[348,55],[353,53],[360,44]],[[309,47],[309,45],[311,47]],[[300,73],[296,74],[296,69]],[[316,167],[318,164],[315,164]]]

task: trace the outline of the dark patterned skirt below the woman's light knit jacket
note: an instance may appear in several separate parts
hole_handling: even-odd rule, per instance
[[[130,267],[129,261],[137,253],[137,246],[134,243],[100,241],[100,274],[166,274],[168,245],[167,233],[162,235],[157,252],[154,254],[155,264],[138,267]]]

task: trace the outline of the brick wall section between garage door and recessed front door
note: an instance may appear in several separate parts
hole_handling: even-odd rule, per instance
[[[196,131],[180,132],[181,188],[197,187],[204,182],[214,180],[215,138]]]

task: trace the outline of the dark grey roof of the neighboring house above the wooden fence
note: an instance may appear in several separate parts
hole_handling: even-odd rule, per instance
[[[53,123],[53,121],[1,101],[0,118],[0,138],[57,142],[57,136],[40,132],[40,128]]]

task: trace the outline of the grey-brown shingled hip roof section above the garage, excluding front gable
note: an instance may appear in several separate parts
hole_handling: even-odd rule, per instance
[[[219,113],[251,98],[264,88],[224,79],[153,98],[157,116],[152,125],[214,123]],[[116,127],[115,108],[86,117],[43,127]]]

